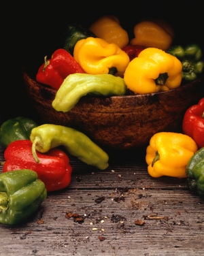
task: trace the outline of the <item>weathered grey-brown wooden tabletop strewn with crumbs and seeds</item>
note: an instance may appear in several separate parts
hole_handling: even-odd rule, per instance
[[[48,193],[26,222],[1,224],[0,255],[201,255],[202,200],[185,178],[152,178],[145,154],[113,153],[105,171],[70,156],[69,187]]]

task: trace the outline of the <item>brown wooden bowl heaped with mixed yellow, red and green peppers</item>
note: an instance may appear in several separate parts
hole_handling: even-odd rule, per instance
[[[41,122],[82,131],[106,150],[146,147],[155,133],[182,131],[184,113],[204,95],[199,45],[172,46],[168,35],[165,48],[129,38],[108,42],[96,35],[100,24],[97,30],[70,25],[50,59],[35,70],[23,67],[24,88]]]

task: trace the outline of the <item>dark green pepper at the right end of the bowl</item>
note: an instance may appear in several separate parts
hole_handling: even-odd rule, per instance
[[[197,44],[171,46],[167,52],[182,62],[182,84],[199,78],[204,71],[201,47]]]

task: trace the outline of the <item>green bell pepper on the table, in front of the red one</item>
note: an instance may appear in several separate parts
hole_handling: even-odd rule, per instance
[[[24,169],[0,174],[0,222],[26,221],[46,197],[46,187],[36,172]]]

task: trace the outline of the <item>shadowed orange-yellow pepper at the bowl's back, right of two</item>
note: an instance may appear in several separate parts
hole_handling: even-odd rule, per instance
[[[130,41],[133,46],[167,50],[173,42],[173,28],[165,20],[143,20],[135,25],[133,31],[135,38]]]

